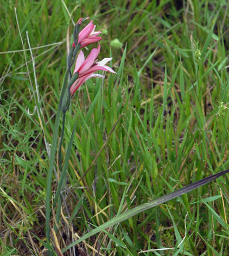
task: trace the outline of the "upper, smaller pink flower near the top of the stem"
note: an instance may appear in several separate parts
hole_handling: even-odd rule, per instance
[[[78,23],[81,25],[82,18],[79,19],[77,24]],[[101,32],[100,31],[95,32],[95,30],[96,30],[96,26],[93,25],[93,23],[91,21],[85,28],[82,29],[82,31],[80,31],[79,39],[78,39],[78,42],[80,43],[80,48],[90,45],[93,42],[98,42],[102,39],[99,36],[97,36]],[[74,42],[73,42],[72,46],[75,46]]]

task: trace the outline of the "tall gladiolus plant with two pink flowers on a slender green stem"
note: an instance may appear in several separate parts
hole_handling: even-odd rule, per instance
[[[53,141],[52,141],[52,148],[51,148],[51,154],[50,154],[50,163],[49,163],[49,169],[48,169],[48,184],[47,184],[47,198],[46,198],[46,235],[47,235],[47,241],[50,242],[50,194],[51,194],[51,185],[52,185],[52,173],[54,168],[54,159],[55,159],[55,149],[56,144],[58,140],[58,130],[59,130],[59,124],[60,124],[60,118],[61,118],[61,111],[63,114],[62,118],[62,131],[61,131],[61,137],[60,137],[60,143],[59,143],[59,154],[58,154],[58,163],[59,163],[59,169],[61,172],[60,180],[58,184],[58,188],[55,193],[55,198],[53,202],[53,209],[55,209],[56,204],[58,203],[58,206],[61,205],[61,187],[63,185],[63,180],[65,180],[66,174],[67,174],[67,166],[69,157],[71,154],[71,148],[74,138],[74,132],[76,128],[76,124],[74,125],[73,132],[71,139],[69,141],[68,149],[65,156],[65,161],[61,163],[61,147],[62,147],[62,141],[63,141],[63,133],[65,129],[65,114],[66,111],[69,108],[69,104],[71,102],[71,95],[74,94],[77,89],[87,81],[91,77],[104,77],[100,74],[94,74],[94,72],[103,70],[103,71],[109,71],[112,73],[115,73],[113,69],[111,69],[109,66],[106,66],[105,64],[109,62],[112,58],[105,58],[98,62],[96,59],[98,57],[98,54],[100,52],[100,45],[98,48],[93,48],[90,54],[88,54],[87,58],[85,59],[84,53],[80,51],[78,54],[78,51],[80,48],[83,48],[87,45],[90,45],[94,42],[98,42],[101,40],[101,38],[97,35],[99,35],[100,31],[95,31],[96,26],[93,25],[93,22],[91,21],[82,31],[80,32],[80,27],[83,22],[88,20],[88,17],[82,19],[80,18],[78,22],[75,25],[74,32],[73,32],[73,45],[72,49],[69,53],[67,65],[68,65],[68,72],[66,72],[65,80],[63,82],[61,96],[60,96],[60,102],[58,107],[58,112],[56,113],[56,120],[55,120],[55,128],[54,128],[54,135],[53,135]],[[77,60],[75,61],[75,58]],[[72,65],[75,63],[75,69],[72,75]],[[70,80],[68,81],[68,77]],[[59,215],[56,215],[56,221],[59,222]]]

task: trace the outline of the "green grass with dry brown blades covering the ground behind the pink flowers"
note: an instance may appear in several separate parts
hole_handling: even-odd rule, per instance
[[[126,210],[228,168],[228,3],[183,2],[185,7],[176,0],[0,3],[1,255],[50,249],[47,223],[54,247],[65,251]],[[21,51],[14,7],[24,48],[28,38],[33,48],[37,86],[31,53]],[[98,58],[113,57],[118,74],[92,78],[72,97],[62,145],[62,163],[71,152],[62,199],[46,223],[47,184],[51,209],[61,176],[55,159],[47,180],[66,41],[81,16],[103,31]],[[115,39],[123,46],[112,46]],[[97,46],[88,46],[85,55]],[[226,174],[100,228],[63,255],[226,255],[228,199]]]

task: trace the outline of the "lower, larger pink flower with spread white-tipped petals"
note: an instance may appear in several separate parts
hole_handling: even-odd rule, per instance
[[[77,91],[77,89],[82,85],[82,83],[84,83],[91,77],[104,77],[99,74],[93,74],[98,70],[104,70],[104,71],[116,73],[115,71],[113,71],[113,69],[110,68],[110,66],[105,65],[112,58],[105,58],[100,62],[95,61],[99,54],[99,51],[100,51],[100,44],[98,49],[94,48],[91,50],[90,54],[87,56],[86,59],[84,57],[84,53],[80,51],[77,61],[75,62],[75,69],[73,72],[73,74],[78,72],[79,78],[77,79],[77,81],[75,81],[75,83],[73,83],[70,89],[71,94],[74,94]]]

